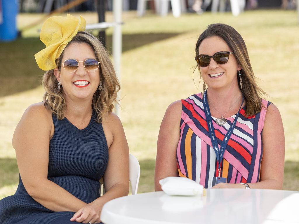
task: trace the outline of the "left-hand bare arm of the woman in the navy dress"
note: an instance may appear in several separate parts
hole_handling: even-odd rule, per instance
[[[54,133],[44,102],[31,105],[13,134],[19,172],[28,194],[52,211],[78,211],[86,203],[48,180],[49,142]]]

